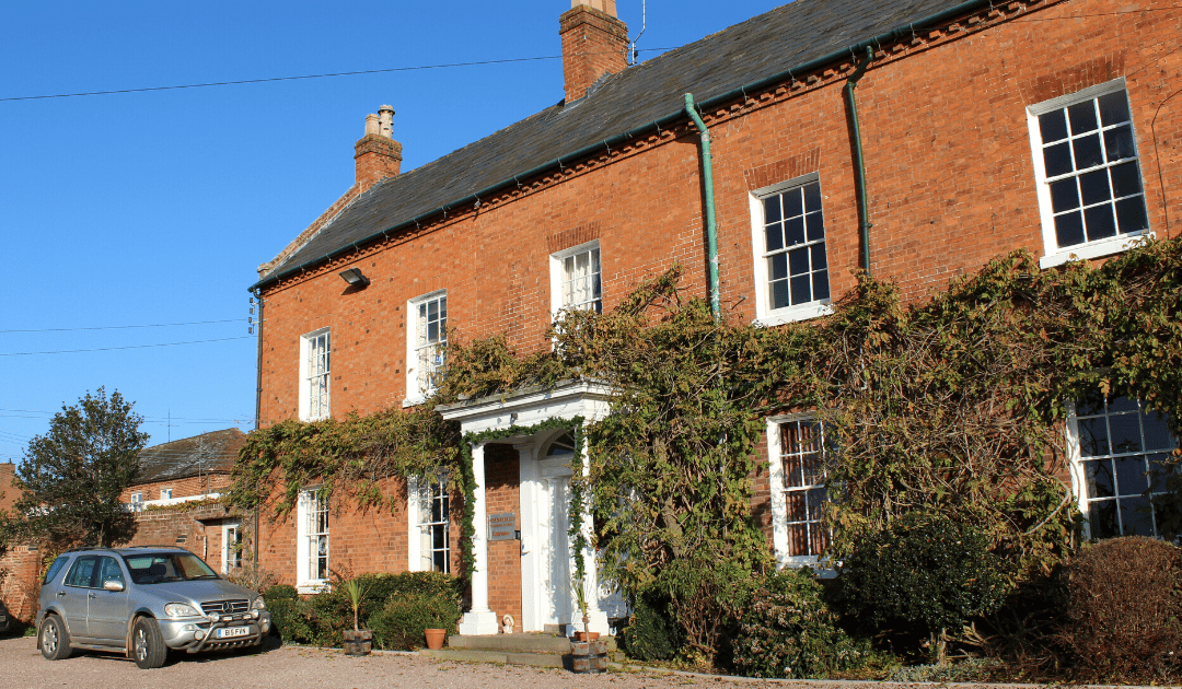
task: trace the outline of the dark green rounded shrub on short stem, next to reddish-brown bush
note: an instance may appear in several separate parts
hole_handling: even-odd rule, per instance
[[[939,636],[1005,600],[1001,560],[985,537],[939,515],[907,514],[855,544],[842,565],[842,598],[860,620],[903,620]],[[942,659],[942,658],[941,658]]]

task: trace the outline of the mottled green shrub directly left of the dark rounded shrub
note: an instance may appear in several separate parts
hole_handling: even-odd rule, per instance
[[[837,626],[812,571],[769,576],[734,639],[735,670],[752,677],[825,678],[862,667],[873,654]]]

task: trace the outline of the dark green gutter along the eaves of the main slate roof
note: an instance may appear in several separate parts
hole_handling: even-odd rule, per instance
[[[808,72],[808,71],[816,70],[818,67],[821,67],[824,65],[827,65],[827,64],[830,64],[832,61],[836,61],[836,60],[839,60],[839,59],[856,58],[856,56],[859,52],[864,52],[866,48],[875,48],[875,47],[882,45],[883,43],[896,40],[896,39],[903,38],[904,35],[910,35],[913,33],[914,28],[916,28],[917,26],[922,27],[922,26],[927,26],[927,25],[930,25],[930,24],[936,24],[936,22],[940,22],[940,21],[953,19],[954,17],[959,17],[961,14],[965,14],[967,12],[972,12],[973,9],[976,9],[976,8],[980,8],[980,7],[989,7],[989,6],[992,6],[992,4],[993,4],[993,0],[968,0],[967,2],[961,2],[959,5],[954,5],[953,7],[949,7],[948,9],[942,9],[942,11],[936,12],[934,14],[929,14],[928,17],[924,17],[923,19],[920,19],[918,21],[913,21],[913,22],[910,22],[910,24],[908,24],[905,26],[895,27],[895,28],[892,28],[892,30],[890,30],[888,32],[879,33],[878,35],[875,35],[872,38],[868,38],[865,40],[862,40],[862,41],[856,43],[853,45],[850,45],[847,47],[843,47],[840,50],[836,50],[836,51],[833,51],[831,53],[827,53],[827,54],[824,54],[824,56],[821,56],[819,58],[816,58],[816,59],[801,63],[799,65],[794,65],[794,66],[792,66],[792,67],[790,67],[787,70],[777,72],[777,73],[771,74],[768,77],[764,77],[762,79],[756,79],[755,82],[751,82],[749,84],[743,84],[742,86],[739,86],[736,89],[732,89],[732,90],[729,90],[729,91],[727,91],[725,93],[720,93],[717,96],[713,96],[710,98],[707,98],[706,100],[702,100],[701,103],[699,103],[699,109],[700,110],[709,110],[710,108],[714,108],[715,105],[721,105],[722,103],[726,103],[728,100],[734,100],[735,98],[743,97],[743,96],[746,96],[751,91],[759,91],[760,89],[764,89],[766,86],[771,86],[771,85],[777,84],[779,82],[782,82],[785,78],[793,78],[794,74],[804,73],[804,72]],[[604,141],[602,141],[599,143],[593,143],[593,144],[590,144],[590,145],[585,145],[585,147],[578,149],[577,151],[573,151],[573,152],[559,156],[557,158],[553,158],[551,161],[541,163],[540,165],[531,168],[531,169],[528,169],[528,170],[526,170],[524,173],[519,173],[519,174],[517,174],[517,175],[514,175],[512,177],[508,177],[506,180],[501,180],[500,182],[496,182],[494,184],[489,184],[488,187],[485,187],[483,189],[481,189],[480,191],[476,191],[475,194],[469,194],[469,195],[467,195],[467,196],[465,196],[462,199],[453,201],[452,203],[441,206],[441,207],[439,207],[439,208],[436,208],[434,210],[430,210],[430,212],[424,213],[422,215],[415,216],[415,217],[413,217],[413,219],[410,219],[410,220],[408,220],[408,221],[405,221],[405,222],[403,222],[401,225],[397,225],[395,227],[384,229],[382,232],[375,232],[374,234],[366,236],[363,240],[359,240],[359,241],[352,242],[352,243],[350,243],[348,246],[340,247],[339,249],[330,252],[330,253],[327,253],[327,254],[325,254],[325,255],[323,255],[320,258],[312,259],[312,260],[309,260],[309,261],[304,261],[303,264],[300,264],[298,266],[292,266],[291,268],[287,268],[287,269],[285,269],[282,272],[272,273],[271,275],[267,275],[266,278],[260,279],[258,282],[255,282],[254,285],[252,285],[248,290],[251,290],[251,291],[253,291],[253,290],[261,290],[261,288],[264,288],[264,287],[266,287],[266,286],[268,286],[268,285],[271,285],[273,282],[278,282],[281,278],[286,278],[287,275],[291,275],[293,273],[298,273],[300,271],[307,271],[309,268],[312,268],[313,266],[316,266],[318,264],[322,264],[322,262],[324,262],[326,260],[332,260],[332,259],[335,259],[337,256],[340,256],[340,255],[343,255],[343,254],[352,251],[358,245],[369,243],[369,242],[375,241],[375,240],[377,240],[379,238],[388,236],[391,232],[397,232],[397,230],[407,228],[407,227],[416,226],[416,225],[421,223],[424,220],[434,217],[440,212],[444,212],[446,213],[446,212],[452,210],[453,208],[457,208],[460,206],[467,206],[469,203],[475,203],[476,201],[480,200],[481,196],[488,196],[488,195],[493,194],[494,191],[498,191],[500,189],[504,189],[505,187],[508,187],[509,184],[515,184],[515,183],[518,183],[518,180],[520,180],[522,177],[532,177],[534,175],[539,175],[541,173],[545,173],[546,170],[550,170],[551,168],[561,167],[564,160],[565,161],[572,161],[572,160],[584,158],[584,157],[586,157],[586,156],[589,156],[589,155],[591,155],[591,154],[593,154],[596,151],[599,151],[599,150],[603,150],[603,149],[610,149],[612,145],[618,145],[621,143],[626,142],[628,139],[636,138],[637,135],[644,134],[644,132],[647,132],[647,131],[649,131],[651,129],[660,129],[662,126],[668,126],[668,125],[670,125],[670,124],[673,124],[675,122],[683,121],[684,118],[686,118],[686,110],[684,110],[684,108],[680,108],[676,111],[670,112],[669,115],[665,115],[664,117],[661,117],[658,119],[654,119],[652,122],[650,122],[648,124],[642,124],[642,125],[632,128],[632,129],[630,129],[630,130],[628,130],[628,131],[625,131],[623,134],[617,134],[616,136],[605,138]]]

